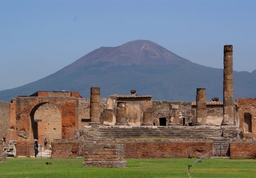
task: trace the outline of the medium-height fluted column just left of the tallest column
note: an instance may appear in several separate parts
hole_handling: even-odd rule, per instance
[[[206,123],[206,89],[196,89],[196,122],[195,125],[207,125]]]

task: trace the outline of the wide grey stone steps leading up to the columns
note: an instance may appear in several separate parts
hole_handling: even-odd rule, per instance
[[[117,138],[174,138],[174,139],[221,139],[221,129],[211,128],[99,128],[96,139]]]

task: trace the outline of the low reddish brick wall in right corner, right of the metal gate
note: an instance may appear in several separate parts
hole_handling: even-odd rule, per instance
[[[231,159],[256,159],[256,142],[231,142]]]

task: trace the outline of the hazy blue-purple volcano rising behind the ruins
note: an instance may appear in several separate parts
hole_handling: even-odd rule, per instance
[[[233,74],[234,97],[255,97],[256,72]],[[152,41],[137,40],[95,49],[43,79],[0,91],[0,100],[62,90],[79,91],[89,98],[91,87],[100,87],[102,98],[130,94],[132,89],[163,101],[195,101],[196,88],[206,88],[208,101],[213,97],[222,100],[223,69],[195,64]]]

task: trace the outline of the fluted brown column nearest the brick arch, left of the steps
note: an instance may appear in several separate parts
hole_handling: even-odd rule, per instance
[[[91,87],[90,125],[100,125],[100,88]]]

